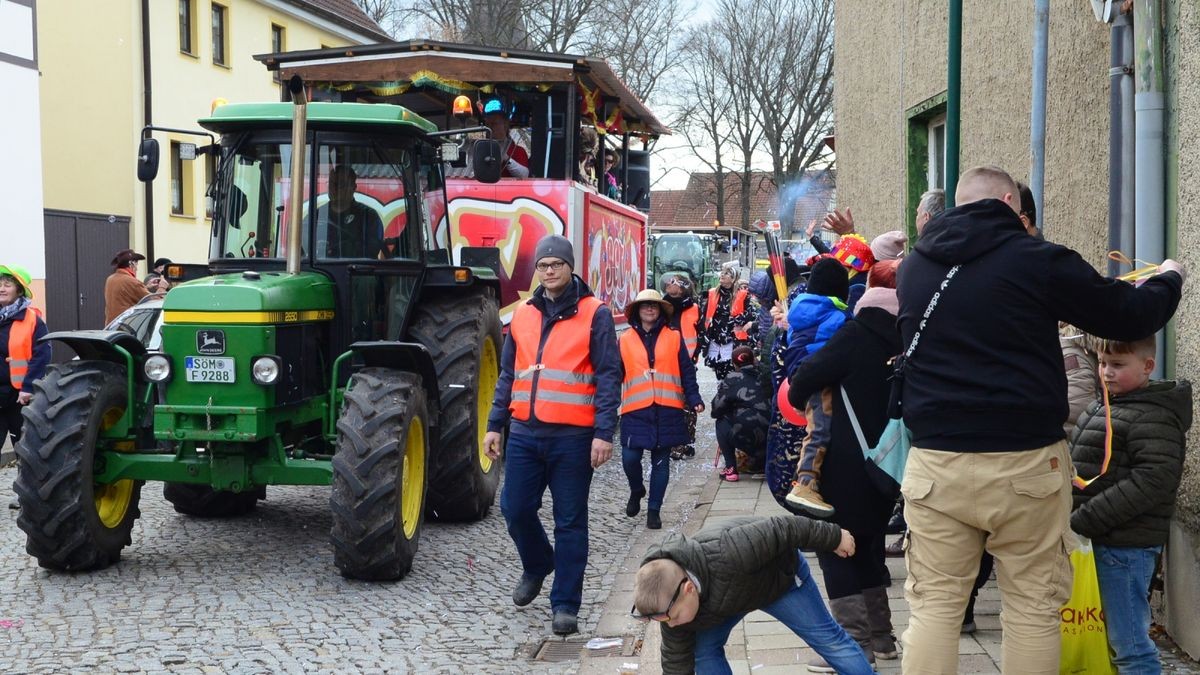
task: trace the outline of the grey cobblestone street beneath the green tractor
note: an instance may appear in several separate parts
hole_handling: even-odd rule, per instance
[[[701,368],[706,400],[715,390]],[[707,414],[707,413],[706,413]],[[702,438],[712,419],[701,416]],[[712,441],[708,441],[712,443]],[[712,474],[713,447],[674,462],[665,536],[685,522]],[[707,455],[706,455],[707,453]],[[704,458],[709,458],[704,461]],[[0,501],[16,467],[0,470]],[[626,518],[619,448],[592,485],[590,555],[581,635],[601,608],[644,516]],[[544,520],[548,520],[546,497]],[[176,514],[146,484],[142,518],[121,562],[88,574],[49,573],[24,552],[17,512],[0,537],[0,673],[560,673],[539,663],[551,638],[550,581],[512,605],[521,569],[499,504],[480,522],[426,522],[413,572],[392,584],[342,579],[329,545],[328,488],[269,488],[244,518]],[[635,551],[635,555],[640,551]]]

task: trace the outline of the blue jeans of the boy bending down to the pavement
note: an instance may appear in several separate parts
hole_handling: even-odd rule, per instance
[[[796,586],[762,610],[791,628],[838,673],[875,673],[858,643],[829,615],[803,554],[796,569]],[[733,673],[725,658],[725,643],[744,617],[745,614],[739,614],[720,626],[696,633],[696,675]]]

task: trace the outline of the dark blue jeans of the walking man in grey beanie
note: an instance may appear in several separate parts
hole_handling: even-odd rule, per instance
[[[554,545],[538,510],[550,488]],[[592,486],[592,435],[539,437],[512,434],[504,458],[500,513],[529,577],[554,573],[550,607],[578,613],[588,565],[588,490]]]

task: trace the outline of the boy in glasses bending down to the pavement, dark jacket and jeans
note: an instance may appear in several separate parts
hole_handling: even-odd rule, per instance
[[[662,628],[662,673],[730,673],[725,643],[761,609],[809,644],[838,673],[872,673],[833,620],[798,549],[854,555],[854,538],[803,516],[740,518],[694,537],[672,534],[649,550],[634,580],[634,616]]]

